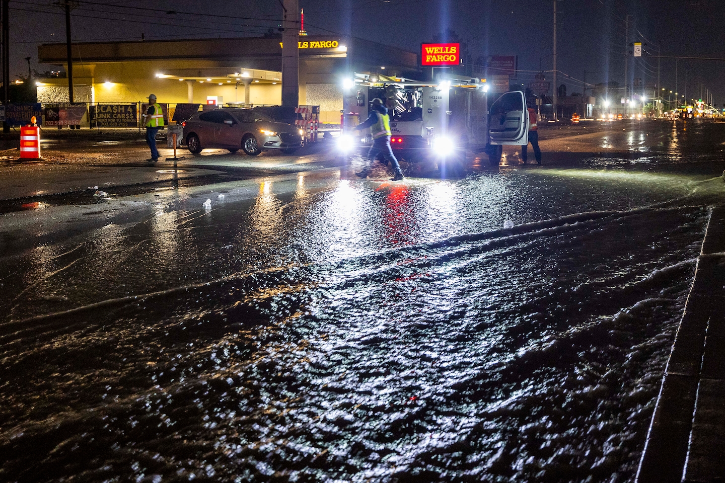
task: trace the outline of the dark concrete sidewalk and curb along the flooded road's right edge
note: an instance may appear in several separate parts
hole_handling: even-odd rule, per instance
[[[725,479],[725,207],[711,213],[638,483]]]

